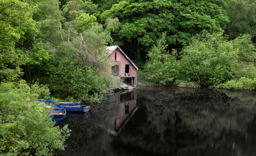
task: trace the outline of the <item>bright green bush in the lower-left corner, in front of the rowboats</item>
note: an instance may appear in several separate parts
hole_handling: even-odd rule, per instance
[[[35,99],[49,96],[47,87],[25,81],[0,85],[0,155],[52,155],[64,149],[67,126],[54,127],[50,111]]]

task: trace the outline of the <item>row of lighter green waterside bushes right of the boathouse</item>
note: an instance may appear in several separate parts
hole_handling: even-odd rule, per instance
[[[147,79],[155,83],[171,84],[183,80],[215,86],[241,77],[254,79],[256,76],[256,49],[250,35],[233,41],[227,41],[221,33],[196,35],[188,46],[183,47],[179,60],[177,51],[169,53],[166,46],[163,34],[148,54],[149,61],[144,71]]]

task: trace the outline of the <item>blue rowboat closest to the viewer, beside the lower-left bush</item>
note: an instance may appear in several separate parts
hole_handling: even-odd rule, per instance
[[[50,113],[52,115],[51,117],[52,120],[60,121],[65,119],[67,111],[63,107],[61,107],[59,104],[49,105],[48,103],[46,103],[46,107],[52,109],[52,113]]]

